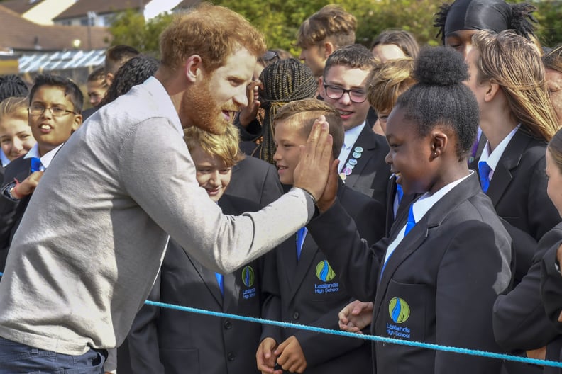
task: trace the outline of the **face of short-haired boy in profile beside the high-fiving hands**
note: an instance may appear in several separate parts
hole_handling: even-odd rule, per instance
[[[294,183],[294,168],[300,160],[300,145],[307,143],[307,136],[302,133],[302,129],[297,123],[287,120],[275,123],[275,146],[277,150],[273,159],[277,164],[277,173],[281,183],[292,185]]]

